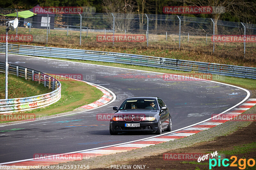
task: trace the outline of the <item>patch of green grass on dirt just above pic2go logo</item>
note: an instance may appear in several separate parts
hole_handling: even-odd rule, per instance
[[[237,154],[243,154],[247,152],[251,152],[252,150],[256,149],[256,142],[252,142],[249,144],[244,144],[241,146],[234,146],[234,149],[228,150],[228,151],[220,151],[221,153],[225,155],[237,155]]]

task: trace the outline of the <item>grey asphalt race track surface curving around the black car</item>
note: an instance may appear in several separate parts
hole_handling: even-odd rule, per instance
[[[0,54],[0,61],[5,61],[5,54]],[[99,113],[114,113],[112,107],[119,106],[130,96],[162,98],[171,110],[172,130],[176,130],[221,113],[241,102],[247,95],[242,89],[215,82],[163,81],[163,74],[137,70],[11,54],[8,55],[8,61],[45,73],[83,74],[84,81],[113,91],[116,100],[104,107],[79,114],[0,127],[0,163],[30,159],[36,153],[80,151],[154,136],[144,133],[111,136],[109,121],[96,120]],[[95,79],[86,80],[88,75],[94,75]],[[11,130],[14,128],[15,131]]]

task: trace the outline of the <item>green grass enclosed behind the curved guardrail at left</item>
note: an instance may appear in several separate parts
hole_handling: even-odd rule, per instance
[[[17,77],[8,74],[8,98],[21,98],[41,95],[51,92],[51,89],[38,84],[38,81],[25,80],[23,77]],[[5,74],[0,73],[0,99],[5,98]]]

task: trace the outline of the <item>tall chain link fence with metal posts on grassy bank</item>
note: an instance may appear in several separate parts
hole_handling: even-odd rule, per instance
[[[1,14],[11,12],[15,12],[15,9],[0,9]],[[16,17],[0,18],[3,42],[6,20]],[[24,44],[39,43],[70,48],[181,49],[248,60],[254,60],[256,55],[255,39],[249,42],[233,42],[228,39],[230,35],[241,35],[242,38],[244,35],[255,35],[256,25],[253,24],[177,15],[119,13],[37,14],[18,19],[18,34],[33,36],[30,42],[24,41]],[[219,35],[224,37],[221,41],[217,41]]]

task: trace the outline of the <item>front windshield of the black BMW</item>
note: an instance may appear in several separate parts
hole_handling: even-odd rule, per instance
[[[158,110],[155,99],[126,99],[120,106],[119,110]]]

